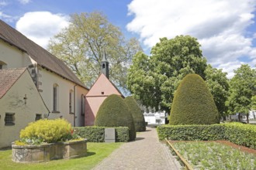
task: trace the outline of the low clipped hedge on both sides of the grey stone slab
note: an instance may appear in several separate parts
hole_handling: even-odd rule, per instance
[[[74,133],[90,142],[104,142],[106,127],[74,127]],[[116,142],[129,141],[129,128],[116,127]]]

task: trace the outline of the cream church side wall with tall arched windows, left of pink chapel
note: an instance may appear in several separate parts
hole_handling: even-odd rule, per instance
[[[83,116],[81,116],[81,94],[88,93],[83,87],[75,85],[75,83],[70,80],[66,80],[61,76],[58,76],[56,73],[50,72],[50,70],[46,70],[40,68],[40,81],[42,85],[40,90],[42,90],[41,95],[43,100],[47,104],[47,107],[50,110],[49,119],[55,118],[64,118],[69,121],[72,126],[84,126]],[[58,85],[58,112],[53,111],[54,105],[54,84]],[[74,114],[70,114],[69,111],[69,92],[73,90],[75,94],[75,98],[73,97],[73,101],[75,101],[75,113],[74,113],[74,104],[72,104],[72,112]],[[75,116],[75,124],[74,124],[74,116]]]

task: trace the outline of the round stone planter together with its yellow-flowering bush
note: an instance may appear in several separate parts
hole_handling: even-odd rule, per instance
[[[40,120],[20,131],[12,143],[13,162],[47,162],[86,155],[87,139],[81,138],[64,119]]]

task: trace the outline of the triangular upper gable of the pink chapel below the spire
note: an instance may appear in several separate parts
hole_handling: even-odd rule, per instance
[[[123,97],[123,94],[116,88],[115,84],[113,84],[105,76],[105,74],[102,73],[92,85],[91,89],[88,91],[85,97],[106,97],[111,95],[112,93],[116,93]]]

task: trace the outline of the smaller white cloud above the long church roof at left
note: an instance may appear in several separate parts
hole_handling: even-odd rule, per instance
[[[27,12],[16,23],[16,29],[43,48],[51,37],[69,25],[67,15],[50,12]]]

